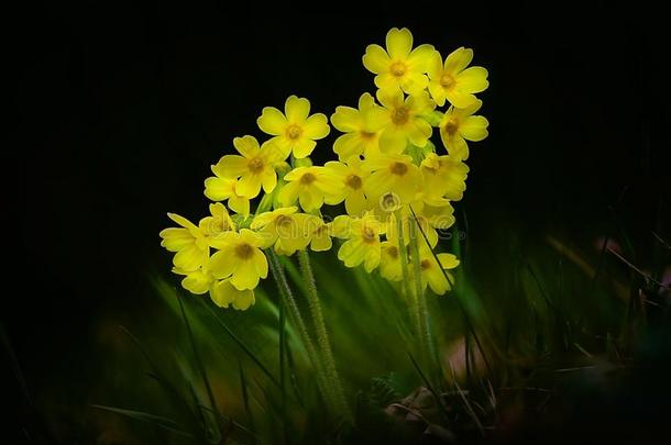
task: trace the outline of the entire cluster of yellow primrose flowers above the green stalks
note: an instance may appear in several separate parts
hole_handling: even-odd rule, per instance
[[[454,223],[451,201],[462,198],[469,173],[466,141],[487,136],[487,120],[474,115],[482,105],[474,93],[487,88],[487,70],[469,67],[472,58],[464,47],[444,62],[431,45],[413,48],[407,29],[392,29],[386,49],[369,45],[363,65],[376,75],[378,90],[362,94],[358,108],[336,109],[331,124],[343,133],[332,147],[338,160],[323,166],[309,156],[330,132],[324,114],[310,114],[310,102],[296,96],[286,100],[284,113],[264,108],[257,124],[272,137],[262,144],[254,136],[235,137],[239,155],[211,167],[215,176],[205,181],[205,194],[215,201],[210,215],[196,225],[168,213],[179,227],[162,231],[162,245],[175,253],[174,271],[185,276],[184,288],[244,310],[268,272],[264,249],[323,252],[338,237],[344,240],[338,257],[346,267],[363,265],[400,281],[404,265],[418,255],[422,289],[447,292],[451,283],[443,270],[459,260],[432,252],[437,229]],[[444,112],[437,110],[446,103]],[[430,141],[433,127],[447,153]],[[250,201],[262,189],[252,213]],[[321,214],[323,204],[341,203],[344,214],[332,221]],[[414,251],[413,224],[421,234]]]

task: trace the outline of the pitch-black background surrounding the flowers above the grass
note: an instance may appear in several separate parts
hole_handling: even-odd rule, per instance
[[[374,92],[361,56],[392,26],[443,55],[472,47],[490,70],[481,94],[490,137],[469,160],[470,221],[505,218],[530,240],[552,232],[587,245],[616,211],[631,233],[663,232],[668,112],[658,98],[668,51],[654,12],[639,2],[475,3],[263,15],[106,3],[8,14],[15,137],[2,149],[0,321],[29,386],[86,372],[79,345],[99,314],[151,322],[148,276],[169,269],[157,235],[165,213],[207,212],[209,165],[234,136],[262,136],[263,107],[296,93],[330,115]]]

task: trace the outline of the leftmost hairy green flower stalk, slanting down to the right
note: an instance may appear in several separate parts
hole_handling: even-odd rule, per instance
[[[268,264],[271,266],[271,272],[273,274],[273,278],[277,283],[277,287],[279,288],[279,293],[283,297],[286,308],[288,309],[292,322],[298,331],[298,335],[300,336],[300,340],[306,348],[310,363],[317,370],[317,385],[321,389],[321,393],[329,404],[331,407],[337,407],[337,398],[329,385],[326,371],[321,360],[319,359],[319,355],[317,354],[312,338],[310,338],[310,335],[308,334],[308,329],[302,320],[302,315],[300,315],[300,310],[298,309],[298,304],[296,303],[292,288],[289,287],[286,275],[284,274],[282,264],[279,263],[279,259],[272,247],[266,251],[266,254],[270,259]]]

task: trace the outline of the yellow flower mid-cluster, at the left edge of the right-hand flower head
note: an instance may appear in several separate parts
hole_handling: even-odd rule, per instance
[[[361,168],[361,158],[352,156],[345,163],[331,160],[323,167],[339,181],[338,191],[326,196],[324,202],[336,205],[344,201],[344,208],[350,215],[361,216],[367,207],[363,185],[369,176],[369,173]]]

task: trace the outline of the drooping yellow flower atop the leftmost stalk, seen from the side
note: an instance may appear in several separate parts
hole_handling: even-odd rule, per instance
[[[250,229],[258,231],[264,248],[274,245],[278,254],[292,255],[306,248],[312,230],[318,225],[314,221],[318,220],[317,216],[297,211],[298,208],[294,205],[261,213],[254,216]]]

